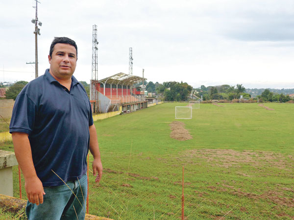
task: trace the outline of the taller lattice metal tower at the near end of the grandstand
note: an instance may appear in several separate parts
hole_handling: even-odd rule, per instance
[[[92,100],[95,100],[95,110],[97,113],[98,110],[98,41],[97,41],[97,25],[93,25],[93,37],[92,37]]]

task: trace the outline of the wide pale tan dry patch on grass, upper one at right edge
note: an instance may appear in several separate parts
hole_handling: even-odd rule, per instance
[[[194,149],[182,153],[180,157],[184,160],[195,160],[195,157],[206,159],[211,166],[219,167],[240,167],[242,164],[249,164],[255,167],[270,166],[280,169],[294,169],[294,157],[280,153],[267,151],[235,151],[230,149]],[[241,176],[248,174],[240,173]],[[250,175],[249,175],[250,176]]]

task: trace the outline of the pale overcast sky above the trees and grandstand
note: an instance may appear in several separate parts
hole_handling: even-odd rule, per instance
[[[294,88],[293,0],[39,0],[39,75],[54,37],[78,47],[74,76],[90,83],[92,26],[98,26],[98,79],[133,73],[194,88],[243,84]],[[31,81],[35,0],[0,1],[0,81]]]

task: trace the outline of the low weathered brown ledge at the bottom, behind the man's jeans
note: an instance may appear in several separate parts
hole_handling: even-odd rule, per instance
[[[8,197],[0,194],[0,207],[10,213],[18,213],[22,209],[25,212],[26,200],[14,197]],[[98,217],[86,214],[85,220],[112,220],[104,217]]]

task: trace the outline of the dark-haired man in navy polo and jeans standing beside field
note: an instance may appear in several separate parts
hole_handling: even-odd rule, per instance
[[[26,215],[29,220],[83,220],[89,149],[96,181],[102,176],[91,104],[73,77],[75,42],[54,38],[48,58],[50,68],[16,98],[10,123],[25,177]]]

